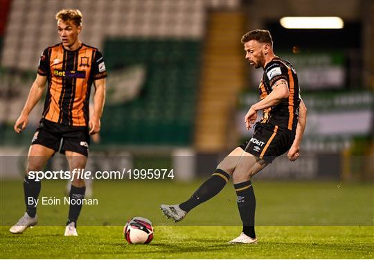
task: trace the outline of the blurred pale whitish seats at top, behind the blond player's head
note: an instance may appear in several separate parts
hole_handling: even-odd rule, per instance
[[[110,4],[108,4],[110,3]],[[14,0],[3,41],[1,64],[35,69],[40,53],[58,42],[55,13],[78,8],[82,40],[102,49],[105,37],[202,39],[207,8],[232,8],[239,0]],[[10,55],[8,54],[10,53]]]

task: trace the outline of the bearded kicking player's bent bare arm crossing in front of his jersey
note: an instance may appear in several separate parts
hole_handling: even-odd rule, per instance
[[[284,98],[288,98],[288,96],[290,95],[290,92],[288,90],[288,83],[284,78],[277,80],[274,85],[271,86],[271,88],[273,90],[266,98],[263,98],[261,101],[249,108],[249,111],[244,118],[244,123],[247,129],[251,128],[251,125],[255,123],[258,110],[263,110],[265,108],[278,105]]]

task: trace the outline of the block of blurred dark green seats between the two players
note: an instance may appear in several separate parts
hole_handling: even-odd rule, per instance
[[[190,144],[200,42],[119,39],[107,40],[104,50],[111,71],[121,65],[145,64],[147,68],[139,98],[124,105],[105,107],[102,129],[103,137],[107,137],[105,143]]]

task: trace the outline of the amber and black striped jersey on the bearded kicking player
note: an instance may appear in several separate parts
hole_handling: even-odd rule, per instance
[[[278,105],[263,110],[260,123],[269,123],[278,125],[278,127],[283,129],[296,131],[301,97],[296,70],[290,62],[276,57],[265,66],[264,74],[258,87],[260,100],[270,94],[274,83],[280,79],[287,81],[290,95]]]

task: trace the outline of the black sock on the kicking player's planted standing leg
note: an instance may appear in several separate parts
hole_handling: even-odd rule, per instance
[[[238,202],[238,209],[240,218],[243,223],[243,233],[252,239],[256,239],[254,230],[254,217],[256,210],[256,198],[254,196],[252,182],[240,182],[234,184],[236,191],[236,202]]]

